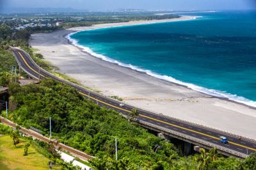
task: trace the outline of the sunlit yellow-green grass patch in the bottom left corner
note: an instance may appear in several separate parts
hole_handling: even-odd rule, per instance
[[[20,138],[17,147],[13,145],[9,135],[0,136],[0,169],[49,169],[49,158],[38,153],[34,146],[29,146],[28,155],[24,156],[26,139]],[[56,166],[53,169],[60,169]]]

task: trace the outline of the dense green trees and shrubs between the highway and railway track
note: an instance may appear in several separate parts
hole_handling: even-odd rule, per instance
[[[118,112],[99,107],[84,99],[76,89],[51,79],[41,84],[10,88],[9,119],[49,134],[61,143],[96,156],[95,169],[251,169],[256,155],[244,162],[221,157],[216,150],[182,157],[171,143],[129,123]],[[4,112],[3,112],[4,116]],[[115,138],[118,139],[118,162],[115,161]]]

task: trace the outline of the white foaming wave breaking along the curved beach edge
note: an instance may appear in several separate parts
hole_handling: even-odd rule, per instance
[[[241,104],[244,104],[244,105],[248,105],[250,107],[256,107],[256,102],[254,102],[253,100],[249,100],[249,99],[244,98],[244,97],[233,95],[233,94],[227,93],[225,91],[220,91],[220,90],[216,90],[216,89],[207,89],[207,88],[197,86],[197,85],[189,83],[189,82],[182,82],[182,81],[179,81],[179,80],[177,80],[173,77],[170,77],[168,75],[160,75],[159,73],[152,72],[151,70],[145,70],[145,69],[140,68],[138,66],[134,66],[134,65],[131,65],[131,64],[125,64],[125,63],[122,63],[120,61],[116,61],[115,59],[108,58],[107,56],[104,56],[102,54],[97,54],[97,53],[93,52],[93,50],[90,49],[89,47],[84,47],[83,45],[79,44],[79,42],[77,40],[70,37],[74,34],[75,33],[70,33],[65,38],[67,38],[72,43],[72,45],[75,45],[76,47],[79,47],[79,48],[83,49],[84,52],[88,52],[89,54],[91,54],[92,56],[94,56],[96,58],[102,59],[104,61],[108,61],[109,63],[114,63],[114,64],[119,65],[119,66],[124,66],[126,68],[136,70],[138,72],[146,73],[147,75],[150,75],[152,77],[156,77],[157,79],[161,79],[161,80],[164,80],[164,81],[173,82],[175,84],[186,86],[189,89],[193,89],[195,91],[199,91],[201,93],[211,95],[213,97],[225,98],[225,99],[228,99],[228,100],[232,100],[234,102],[238,102],[238,103],[241,103]]]

